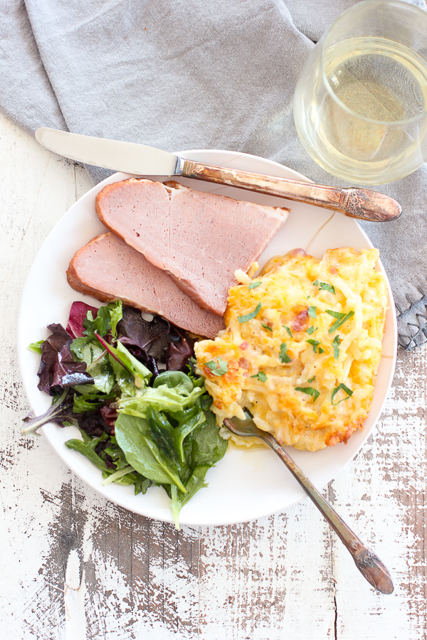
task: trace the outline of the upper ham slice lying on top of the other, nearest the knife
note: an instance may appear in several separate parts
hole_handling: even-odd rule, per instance
[[[199,306],[221,316],[234,272],[248,271],[289,213],[142,178],[103,188],[96,211]]]

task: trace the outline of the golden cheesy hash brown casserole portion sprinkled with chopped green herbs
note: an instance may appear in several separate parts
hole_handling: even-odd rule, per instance
[[[195,345],[218,425],[247,407],[281,444],[309,451],[362,429],[385,328],[378,258],[376,249],[332,249],[322,260],[294,251],[230,289],[226,330]]]

